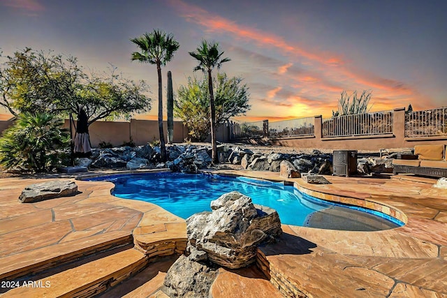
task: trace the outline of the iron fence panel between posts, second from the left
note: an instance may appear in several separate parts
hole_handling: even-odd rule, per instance
[[[269,137],[293,137],[314,135],[314,117],[269,122]]]

